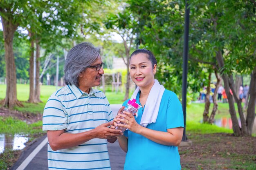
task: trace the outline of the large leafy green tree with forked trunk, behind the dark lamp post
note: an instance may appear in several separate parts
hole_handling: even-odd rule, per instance
[[[188,76],[200,82],[202,77],[198,77],[200,75],[198,71],[203,68],[200,65],[202,63],[211,64],[212,70],[221,75],[227,93],[229,93],[229,88],[232,89],[234,86],[232,73],[254,75],[255,62],[252,61],[255,60],[256,46],[254,21],[256,10],[254,1],[238,0],[232,3],[229,2],[228,0],[190,1],[192,14],[190,43],[193,50],[190,52]],[[143,44],[143,46],[158,54],[158,61],[171,65],[174,68],[173,70],[181,72],[180,64],[182,61],[180,56],[182,55],[180,53],[182,49],[180,47],[182,45],[180,42],[182,42],[181,33],[183,30],[181,16],[184,12],[182,11],[184,4],[180,1],[163,2],[151,0],[143,2],[129,0],[128,4],[130,5],[130,11],[136,11],[131,12],[132,17],[137,21],[133,28],[137,29],[135,32],[139,32],[136,42]],[[177,84],[181,84],[178,82],[180,74],[175,74],[175,71],[171,74],[177,76]],[[161,75],[164,74],[161,73]],[[201,75],[205,76],[204,74]],[[167,77],[162,77],[163,82],[166,82],[164,86],[169,84],[166,81],[169,80],[169,76]],[[252,76],[252,84],[254,84],[254,81]],[[232,92],[235,96],[234,89]],[[250,109],[247,109],[251,110],[252,108],[254,110],[248,114],[250,116],[247,115],[247,118],[253,118],[250,120],[245,120],[243,117],[241,102],[235,97],[242,122],[241,128],[238,126],[234,100],[230,93],[227,95],[234,134],[237,136],[250,135],[251,125],[255,117],[254,95],[250,96],[250,100],[252,99],[254,104],[248,106]],[[213,112],[215,110],[216,107]],[[247,121],[248,123],[246,123]]]

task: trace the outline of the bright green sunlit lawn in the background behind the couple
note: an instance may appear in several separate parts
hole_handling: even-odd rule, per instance
[[[17,98],[18,100],[22,101],[22,104],[24,104],[24,107],[16,107],[14,109],[21,112],[43,113],[43,108],[45,106],[45,103],[47,102],[49,96],[56,91],[56,86],[42,85],[40,87],[40,91],[41,91],[40,99],[42,100],[42,103],[30,104],[26,102],[29,99],[29,84],[17,84]],[[6,85],[0,84],[0,99],[4,99],[5,93],[6,93]],[[108,97],[108,101],[110,102],[110,104],[123,103],[124,93],[120,93],[120,92],[115,93],[111,91],[106,91],[105,95]],[[210,111],[211,109],[212,109],[212,104],[210,107]],[[199,122],[202,119],[203,112],[204,112],[204,103],[189,104],[186,108],[186,113],[187,113],[186,119],[189,121]],[[227,103],[219,103],[219,106],[218,106],[216,119],[223,116],[230,117],[229,105]]]

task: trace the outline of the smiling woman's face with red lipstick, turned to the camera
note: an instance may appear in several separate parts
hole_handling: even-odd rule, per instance
[[[153,67],[146,55],[138,53],[137,55],[132,55],[130,59],[130,77],[137,86],[142,88],[153,86],[154,74],[157,69],[156,64]]]

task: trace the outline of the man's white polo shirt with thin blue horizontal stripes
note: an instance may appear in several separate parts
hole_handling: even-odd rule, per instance
[[[49,97],[43,113],[43,130],[80,133],[112,121],[108,99],[99,90],[84,93],[66,85]],[[91,139],[79,146],[54,151],[48,143],[49,170],[111,170],[107,139]]]

